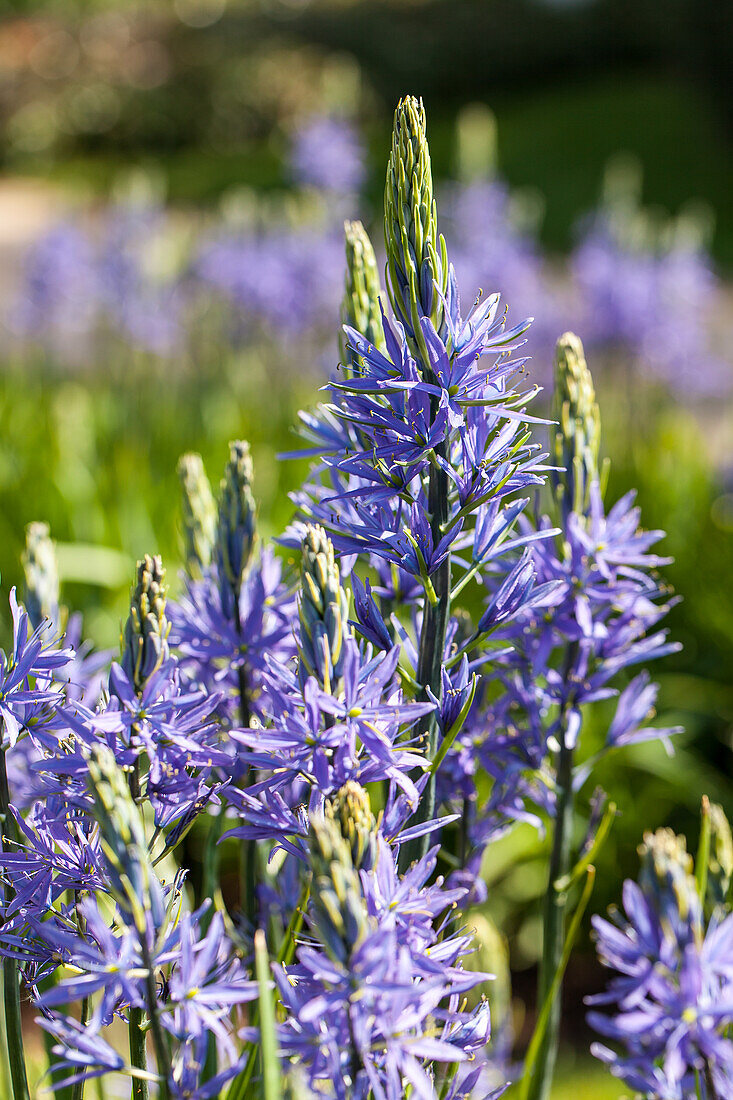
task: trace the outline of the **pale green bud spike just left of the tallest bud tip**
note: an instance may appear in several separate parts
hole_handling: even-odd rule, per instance
[[[360,221],[343,223],[346,237],[346,289],[341,304],[341,321],[361,332],[379,351],[384,351],[384,330],[380,309],[380,273],[372,242]],[[358,366],[360,356],[348,346],[341,333],[341,362]]]

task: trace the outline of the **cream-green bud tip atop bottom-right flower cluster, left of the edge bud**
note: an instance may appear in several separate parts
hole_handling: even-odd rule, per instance
[[[671,928],[700,927],[700,899],[685,837],[670,828],[645,833],[638,854],[639,886],[647,897],[655,899],[663,924]]]

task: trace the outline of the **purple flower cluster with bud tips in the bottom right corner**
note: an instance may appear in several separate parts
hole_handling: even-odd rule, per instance
[[[592,1011],[589,1022],[623,1050],[595,1043],[593,1053],[655,1100],[722,1100],[733,1088],[731,829],[720,806],[703,812],[715,823],[715,846],[712,858],[698,857],[710,866],[699,864],[697,881],[685,838],[649,833],[638,882],[624,883],[623,913],[593,921],[599,957],[616,976],[606,992],[588,998],[614,1014]],[[712,913],[705,880],[720,899]]]

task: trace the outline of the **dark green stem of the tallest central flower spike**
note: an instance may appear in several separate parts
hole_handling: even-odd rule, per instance
[[[435,399],[434,399],[435,400]],[[437,409],[435,410],[437,414]],[[435,415],[434,414],[434,415]],[[445,459],[446,443],[436,447],[436,454]],[[448,521],[448,474],[437,463],[430,466],[428,481],[428,512],[430,514],[430,531],[434,546],[442,538],[441,527]],[[446,630],[450,616],[450,554],[430,575],[435,588],[436,602],[427,598],[423,609],[423,629],[417,661],[417,682],[420,684],[420,695],[427,698],[429,688],[436,698],[440,698],[442,658],[446,649]],[[433,762],[438,751],[438,723],[435,713],[423,719],[419,727],[418,744],[424,749],[428,762]],[[435,817],[436,772],[431,771],[427,785],[423,791],[414,823],[427,822]],[[428,850],[430,837],[422,836],[406,844],[401,853],[403,870],[414,859],[420,859]]]

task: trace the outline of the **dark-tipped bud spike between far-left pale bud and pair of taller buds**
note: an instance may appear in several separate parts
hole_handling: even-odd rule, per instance
[[[165,616],[165,570],[158,554],[138,562],[130,614],[121,638],[122,669],[138,694],[168,657],[171,624]]]

